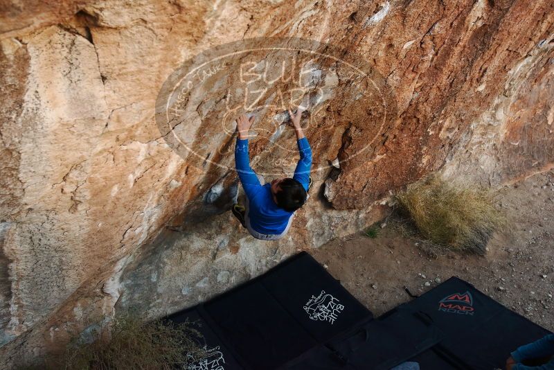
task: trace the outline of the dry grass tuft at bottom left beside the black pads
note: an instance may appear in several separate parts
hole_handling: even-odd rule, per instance
[[[135,315],[116,319],[111,335],[94,333],[91,343],[75,340],[63,355],[50,358],[48,369],[186,369],[190,357],[198,360],[204,349],[202,334],[191,323],[143,322]]]

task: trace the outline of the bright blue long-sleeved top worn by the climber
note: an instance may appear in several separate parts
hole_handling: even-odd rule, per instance
[[[312,168],[312,148],[305,137],[296,142],[300,160],[292,178],[298,180],[307,191],[310,168]],[[285,231],[293,212],[285,211],[277,206],[271,195],[271,184],[260,184],[256,173],[250,167],[248,139],[241,140],[237,137],[235,167],[244,193],[249,200],[249,218],[252,229],[260,234],[281,234]]]

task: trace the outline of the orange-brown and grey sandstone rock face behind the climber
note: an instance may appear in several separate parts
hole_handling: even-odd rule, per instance
[[[91,317],[128,308],[159,317],[357,231],[392,191],[432,171],[497,186],[554,164],[550,0],[64,0],[1,9],[5,367],[59,348],[98,324]],[[304,60],[310,91],[328,87],[305,131],[314,190],[287,237],[269,243],[229,212],[238,187],[224,107],[244,94],[240,68],[215,71],[211,85],[181,101],[169,127],[197,155],[157,119],[172,73],[195,55],[260,37],[312,40],[367,73],[349,80],[328,58]],[[234,61],[252,55],[263,57]],[[297,158],[294,135],[276,125],[286,114],[267,107],[294,87],[279,83],[256,111],[266,134],[251,140],[253,168],[267,180],[290,173]]]

